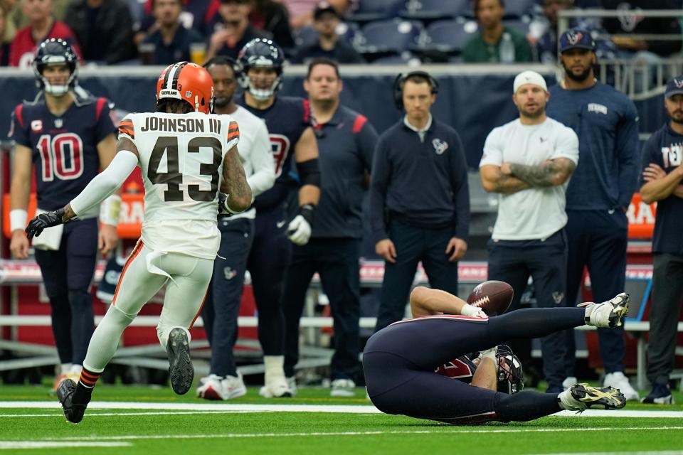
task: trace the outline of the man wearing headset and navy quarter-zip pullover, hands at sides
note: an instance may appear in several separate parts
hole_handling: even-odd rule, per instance
[[[398,75],[393,97],[406,114],[375,149],[370,216],[375,250],[385,260],[375,331],[403,318],[420,261],[432,288],[457,295],[470,195],[460,137],[430,112],[437,92],[424,71]]]

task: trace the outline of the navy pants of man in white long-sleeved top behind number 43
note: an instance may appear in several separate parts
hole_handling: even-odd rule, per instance
[[[254,238],[254,220],[218,219],[221,247],[213,262],[213,278],[201,311],[206,338],[211,343],[210,373],[237,376],[233,348],[237,341],[237,318],[242,301],[244,273]],[[223,259],[225,258],[225,259]]]

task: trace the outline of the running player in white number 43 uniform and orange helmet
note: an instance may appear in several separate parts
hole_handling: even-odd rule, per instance
[[[78,385],[65,380],[57,391],[69,422],[83,419],[92,388],[124,329],[164,285],[157,335],[168,351],[171,386],[182,395],[192,384],[189,328],[201,311],[221,240],[216,211],[220,206],[240,213],[252,200],[238,155],[238,124],[229,115],[211,114],[212,107],[213,82],[204,68],[186,62],[169,65],[157,81],[157,112],[122,120],[110,166],[65,207],[38,215],[26,228],[31,238],[66,223],[112,194],[135,166],[142,170],[142,236],[92,335]]]

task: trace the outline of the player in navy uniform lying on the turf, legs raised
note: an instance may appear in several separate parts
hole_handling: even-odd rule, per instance
[[[418,287],[411,294],[415,319],[391,324],[366,345],[363,368],[370,400],[387,414],[452,424],[526,422],[561,410],[624,407],[624,396],[612,387],[577,384],[560,394],[496,391],[497,363],[491,348],[509,338],[539,338],[583,324],[620,326],[628,313],[628,294],[580,306],[521,309],[488,318],[452,294]],[[471,385],[436,373],[452,359],[477,351],[485,355]]]

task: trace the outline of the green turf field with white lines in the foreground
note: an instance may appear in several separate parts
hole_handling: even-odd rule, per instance
[[[361,388],[351,399],[331,398],[329,389],[317,388],[302,389],[289,400],[265,400],[251,387],[231,402],[206,402],[192,394],[98,385],[83,422],[74,425],[65,422],[46,387],[3,385],[0,453],[683,453],[683,405],[634,403],[625,408],[629,414],[612,412],[614,417],[586,412],[524,424],[453,427],[380,414]],[[683,394],[677,392],[676,400],[683,402]],[[277,411],[282,405],[296,407]],[[295,412],[304,407],[307,412]]]

